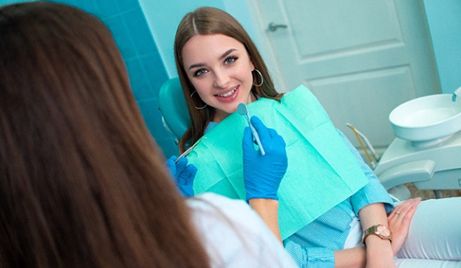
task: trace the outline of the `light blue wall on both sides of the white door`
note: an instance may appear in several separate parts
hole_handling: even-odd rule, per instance
[[[440,74],[442,92],[452,93],[461,86],[461,1],[423,0]],[[254,25],[245,0],[172,0],[154,3],[139,0],[154,34],[168,76],[177,76],[172,45],[176,26],[189,11],[199,6],[214,6],[232,14],[243,24],[258,45]]]

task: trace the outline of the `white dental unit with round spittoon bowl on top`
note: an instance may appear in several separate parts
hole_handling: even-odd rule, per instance
[[[389,114],[396,139],[382,154],[375,174],[390,194],[409,198],[404,183],[418,189],[461,189],[461,87],[453,94],[422,96]],[[404,187],[406,188],[406,187]]]

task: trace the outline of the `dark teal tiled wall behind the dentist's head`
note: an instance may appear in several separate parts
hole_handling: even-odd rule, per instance
[[[138,0],[52,0],[85,10],[99,17],[111,30],[121,50],[130,75],[134,97],[150,132],[165,156],[178,154],[174,136],[162,125],[158,111],[158,90],[167,81],[152,33],[147,25]],[[19,3],[21,0],[0,0],[1,4]]]

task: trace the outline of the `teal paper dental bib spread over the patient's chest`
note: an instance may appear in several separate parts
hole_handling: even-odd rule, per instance
[[[282,239],[367,184],[327,112],[303,85],[285,94],[281,103],[262,98],[249,103],[248,109],[287,144],[288,169],[278,189]],[[216,192],[245,200],[242,138],[247,125],[236,112],[227,116],[187,156],[198,169],[195,194]]]

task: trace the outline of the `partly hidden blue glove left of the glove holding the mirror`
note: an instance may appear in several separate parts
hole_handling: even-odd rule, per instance
[[[185,157],[180,158],[177,163],[174,163],[176,158],[177,156],[171,156],[167,160],[167,166],[170,169],[174,181],[176,181],[176,186],[178,186],[181,193],[183,193],[183,196],[194,196],[192,185],[194,185],[197,168],[192,164],[187,165],[187,158]]]

